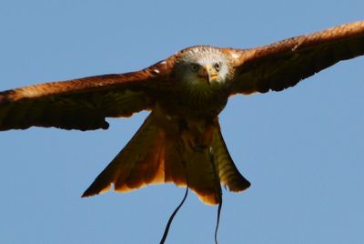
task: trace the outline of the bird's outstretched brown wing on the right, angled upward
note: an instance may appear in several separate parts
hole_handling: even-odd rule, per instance
[[[364,21],[252,49],[225,49],[236,68],[231,94],[281,91],[341,60],[364,55]]]

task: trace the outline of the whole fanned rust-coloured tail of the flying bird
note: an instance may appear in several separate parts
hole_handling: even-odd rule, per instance
[[[112,185],[116,191],[127,192],[173,182],[188,186],[203,202],[217,204],[221,201],[220,183],[232,191],[250,185],[228,155],[218,126],[211,147],[197,151],[187,147],[178,122],[154,110],[82,197],[105,192]]]

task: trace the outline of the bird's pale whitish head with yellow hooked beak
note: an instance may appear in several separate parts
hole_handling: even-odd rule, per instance
[[[231,61],[219,48],[193,46],[178,56],[176,74],[193,87],[224,86],[232,76]]]

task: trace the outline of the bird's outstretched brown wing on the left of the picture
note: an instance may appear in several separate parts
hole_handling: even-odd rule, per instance
[[[0,130],[32,126],[106,129],[106,117],[129,117],[153,107],[154,90],[168,71],[166,63],[158,63],[132,73],[89,76],[0,92]]]

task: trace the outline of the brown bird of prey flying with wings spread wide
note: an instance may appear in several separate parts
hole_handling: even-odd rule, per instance
[[[0,130],[107,129],[106,117],[151,111],[83,197],[173,182],[204,203],[250,186],[230,157],[218,114],[236,94],[281,91],[364,55],[364,21],[249,49],[188,47],[145,69],[0,92]]]

